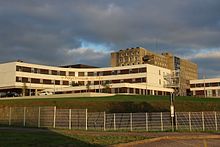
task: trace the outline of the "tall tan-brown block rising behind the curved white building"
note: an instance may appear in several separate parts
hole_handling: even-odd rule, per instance
[[[178,95],[187,95],[190,89],[189,81],[198,79],[197,64],[176,57],[171,53],[156,54],[142,47],[127,48],[111,53],[112,67],[140,64],[151,64],[176,71],[176,74],[170,76],[179,76],[179,84],[176,85],[176,87],[178,87]],[[172,79],[172,77],[170,79]]]

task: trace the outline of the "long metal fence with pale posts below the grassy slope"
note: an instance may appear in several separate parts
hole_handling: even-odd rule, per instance
[[[173,121],[172,121],[173,120]],[[1,126],[81,130],[219,131],[220,112],[105,113],[56,107],[0,108]]]

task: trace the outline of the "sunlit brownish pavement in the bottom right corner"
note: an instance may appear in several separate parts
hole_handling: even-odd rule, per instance
[[[160,133],[159,133],[160,134]],[[160,134],[162,135],[162,134]],[[115,147],[220,147],[218,133],[168,133],[162,137],[114,145]]]

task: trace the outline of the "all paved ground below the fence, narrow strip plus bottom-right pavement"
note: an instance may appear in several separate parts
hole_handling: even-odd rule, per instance
[[[17,130],[26,132],[58,131],[70,134],[87,134],[91,136],[103,135],[125,135],[125,136],[145,136],[146,139],[131,143],[113,145],[116,147],[220,147],[220,133],[194,133],[194,132],[95,132],[76,130],[48,130],[37,128],[13,128],[0,127],[1,130]]]

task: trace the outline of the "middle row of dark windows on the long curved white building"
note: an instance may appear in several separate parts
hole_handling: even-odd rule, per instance
[[[85,85],[84,81],[78,81],[78,83],[65,81],[65,80],[51,80],[51,79],[36,79],[36,78],[26,78],[26,77],[16,77],[16,82],[26,83],[26,84],[51,84],[51,85],[72,85],[80,86]],[[134,79],[122,79],[122,80],[108,80],[108,81],[89,81],[91,85],[100,85],[103,83],[143,83],[146,82],[146,77],[134,78]]]

